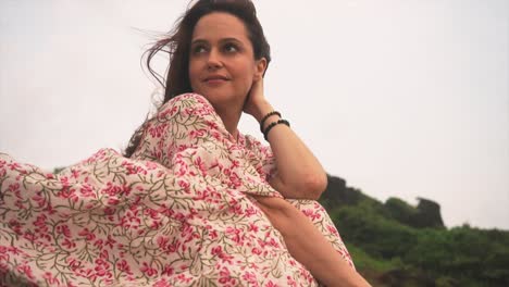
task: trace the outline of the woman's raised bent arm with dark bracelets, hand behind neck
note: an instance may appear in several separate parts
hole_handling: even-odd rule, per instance
[[[244,111],[259,123],[264,115],[274,111],[263,96],[263,79],[253,84]],[[271,115],[264,122],[263,129],[277,120],[278,115]],[[277,167],[277,174],[270,182],[272,187],[286,198],[318,199],[325,190],[327,177],[309,148],[284,124],[275,125],[270,130],[268,140]]]

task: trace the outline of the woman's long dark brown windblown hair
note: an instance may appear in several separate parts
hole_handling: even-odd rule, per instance
[[[263,35],[263,28],[258,21],[254,4],[250,0],[199,0],[187,9],[167,37],[157,41],[146,52],[148,54],[146,63],[148,71],[164,87],[164,99],[160,107],[175,96],[193,91],[189,80],[189,51],[193,32],[196,23],[202,16],[212,12],[225,12],[243,21],[253,48],[254,59],[260,60],[265,58],[266,65],[269,66],[271,62],[271,49]],[[170,55],[165,84],[163,83],[164,78],[150,64],[152,58],[159,52],[165,52]],[[148,121],[147,118],[131,137],[124,152],[125,157],[129,158],[136,151]]]

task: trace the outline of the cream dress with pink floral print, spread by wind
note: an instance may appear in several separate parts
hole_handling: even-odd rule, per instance
[[[0,154],[0,285],[318,285],[251,197],[282,197],[269,147],[195,93],[144,130],[132,158],[102,149],[58,174]],[[325,210],[288,201],[353,266]]]

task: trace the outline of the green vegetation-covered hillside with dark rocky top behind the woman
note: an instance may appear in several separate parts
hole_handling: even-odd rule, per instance
[[[438,203],[385,203],[330,176],[321,202],[374,286],[509,286],[509,232],[446,228]]]

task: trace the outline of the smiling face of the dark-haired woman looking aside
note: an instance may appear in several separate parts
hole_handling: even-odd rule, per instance
[[[254,60],[239,18],[213,12],[198,21],[189,51],[190,85],[216,110],[241,111],[253,79],[259,79],[264,68],[265,60]]]

